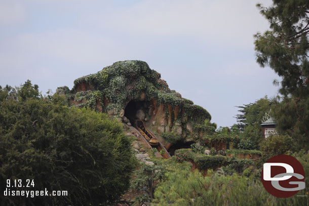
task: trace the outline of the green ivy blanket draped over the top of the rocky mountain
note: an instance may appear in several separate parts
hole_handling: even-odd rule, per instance
[[[78,94],[81,86],[89,91],[81,92],[82,95]],[[100,91],[100,93],[92,95],[95,91]],[[120,111],[125,108],[128,100],[138,99],[144,93],[146,101],[154,98],[158,104],[179,106],[180,111],[185,111],[184,115],[188,120],[203,123],[205,119],[211,119],[211,115],[206,109],[194,105],[192,101],[184,99],[176,91],[170,90],[166,81],[161,79],[161,74],[150,69],[148,64],[143,61],[115,62],[111,66],[104,67],[98,73],[75,79],[71,93],[70,100],[89,100],[89,102],[76,106],[91,109],[95,109],[98,100],[102,104],[105,97],[109,103],[105,108],[106,111],[111,108],[118,108]]]

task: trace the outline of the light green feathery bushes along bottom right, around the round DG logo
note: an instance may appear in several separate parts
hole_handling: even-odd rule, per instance
[[[309,184],[309,154],[298,153],[297,159],[305,171],[305,184]],[[249,160],[250,161],[250,160]],[[155,191],[155,202],[162,206],[182,205],[307,205],[308,189],[300,190],[289,198],[277,198],[269,194],[260,180],[260,171],[247,167],[242,172],[222,167],[224,175],[208,171],[204,177],[200,172],[176,170],[166,173],[166,180]]]

